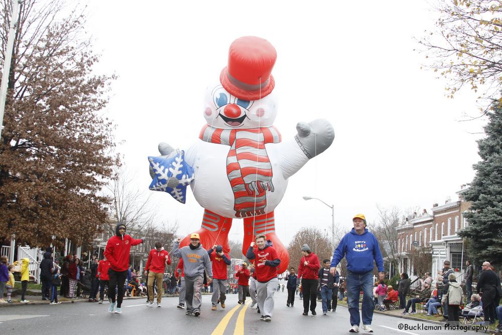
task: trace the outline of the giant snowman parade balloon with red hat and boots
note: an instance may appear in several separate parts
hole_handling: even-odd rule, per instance
[[[228,64],[219,82],[206,90],[199,139],[186,152],[159,144],[161,156],[150,156],[151,190],[164,191],[185,203],[190,185],[204,207],[195,232],[206,249],[222,245],[234,218],[243,219],[245,254],[255,236],[265,234],[286,270],[289,255],[276,235],[274,209],[288,178],[333,142],[331,124],[323,119],[299,122],[297,134],[283,140],[274,127],[277,115],[272,68],[277,52],[262,38],[246,36],[230,45]],[[181,246],[188,245],[185,237]]]

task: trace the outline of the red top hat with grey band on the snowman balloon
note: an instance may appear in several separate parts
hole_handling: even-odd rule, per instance
[[[239,99],[261,99],[274,89],[271,72],[276,59],[277,51],[269,41],[256,36],[240,37],[228,50],[228,66],[221,70],[221,85]]]

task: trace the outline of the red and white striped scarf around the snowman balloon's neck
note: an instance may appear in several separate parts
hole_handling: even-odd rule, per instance
[[[275,127],[219,129],[205,125],[199,138],[230,146],[226,173],[235,199],[235,216],[265,214],[266,192],[274,192],[272,165],[265,144],[281,142],[279,131]]]

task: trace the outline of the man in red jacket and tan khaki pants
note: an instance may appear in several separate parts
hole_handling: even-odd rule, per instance
[[[148,255],[147,265],[145,266],[145,275],[148,276],[148,297],[147,307],[154,305],[154,281],[157,281],[157,307],[160,307],[164,287],[162,280],[164,279],[164,271],[166,264],[171,264],[169,253],[162,247],[162,243],[155,242],[155,249],[150,250]]]

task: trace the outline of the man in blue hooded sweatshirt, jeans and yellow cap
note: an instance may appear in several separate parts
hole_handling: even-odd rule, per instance
[[[347,305],[350,313],[350,332],[359,332],[359,292],[362,289],[362,329],[373,332],[373,261],[379,271],[379,281],[385,278],[384,259],[378,241],[366,229],[366,218],[356,214],[352,222],[354,228],[345,234],[333,253],[331,275],[335,275],[336,266],[345,256],[347,259]]]

